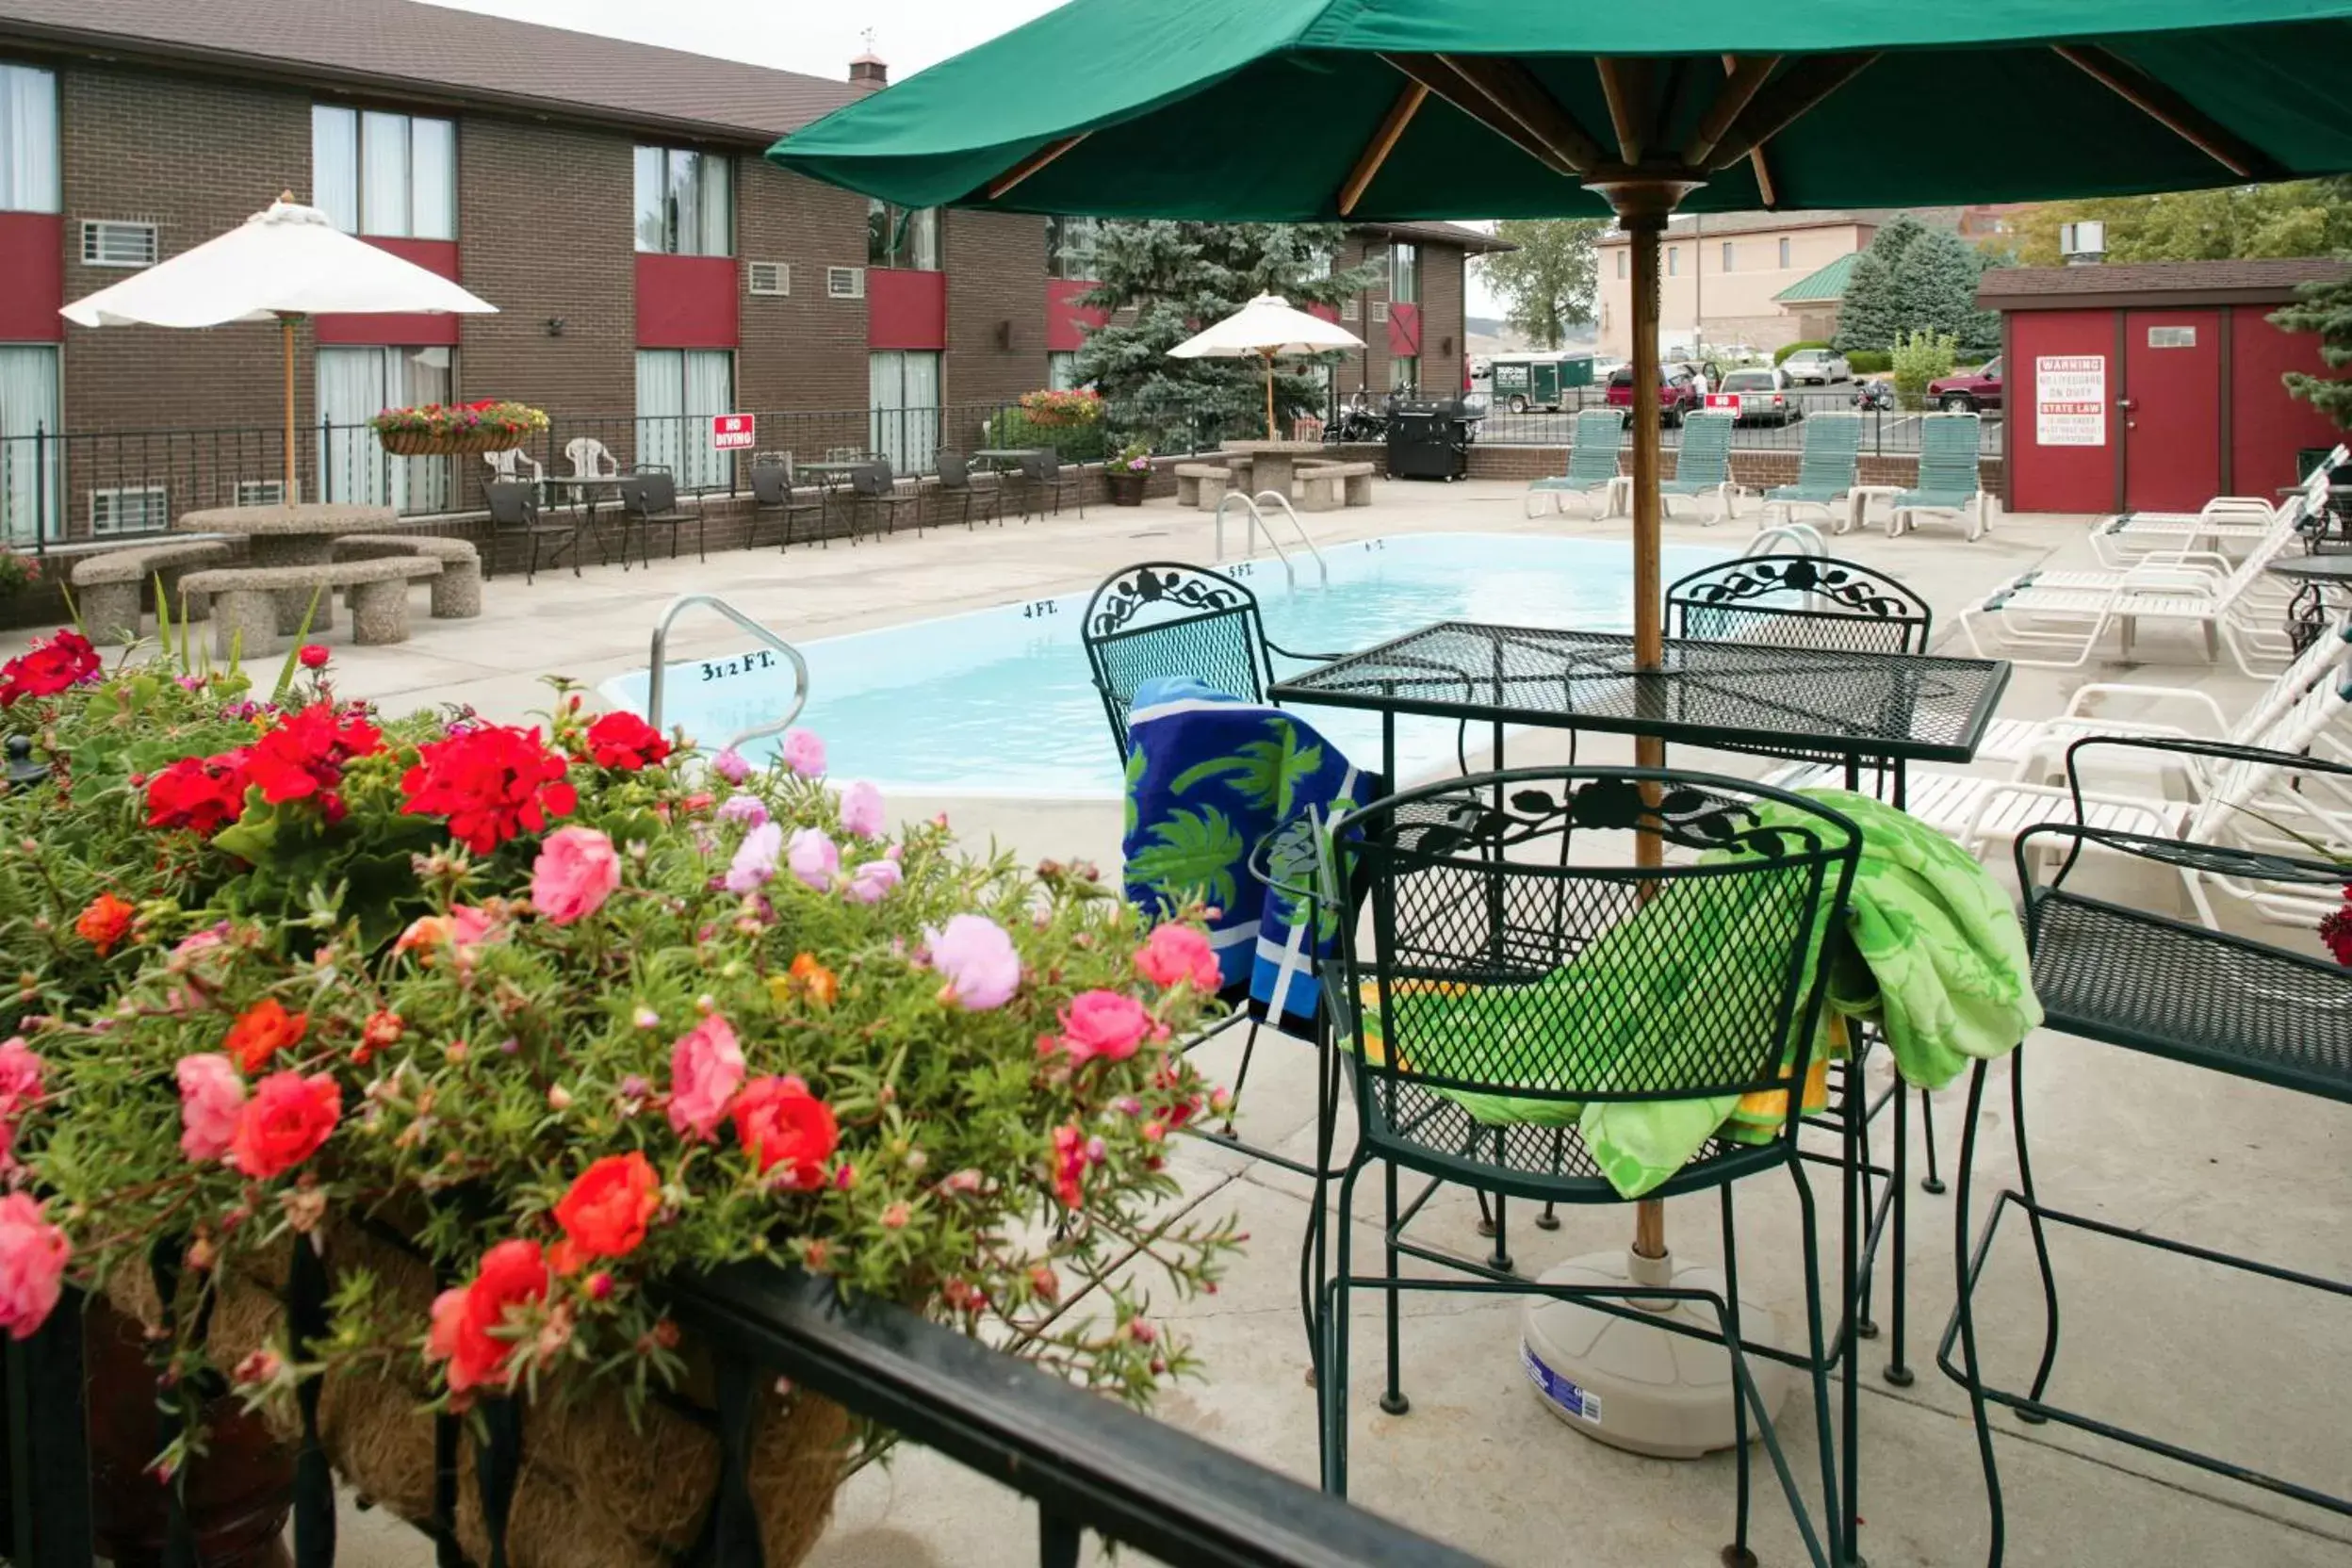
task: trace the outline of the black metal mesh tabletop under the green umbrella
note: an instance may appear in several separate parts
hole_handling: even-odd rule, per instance
[[[1684,745],[1966,762],[2009,684],[1997,658],[1856,654],[1670,637],[1635,670],[1632,637],[1444,621],[1275,684],[1322,703],[1658,736]]]

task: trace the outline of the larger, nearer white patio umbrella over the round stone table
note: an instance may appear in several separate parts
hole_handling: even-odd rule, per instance
[[[287,503],[294,501],[294,322],[303,315],[496,315],[414,261],[339,230],[292,193],[226,235],[64,308],[80,327],[221,327],[278,317],[287,371]]]

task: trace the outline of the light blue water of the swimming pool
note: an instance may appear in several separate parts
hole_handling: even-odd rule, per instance
[[[1722,550],[1670,548],[1665,578],[1722,557]],[[1305,651],[1367,649],[1432,621],[1632,625],[1625,541],[1399,534],[1336,545],[1327,559],[1329,588],[1315,581],[1312,564],[1296,590],[1272,559],[1232,562],[1223,571],[1258,595],[1275,642]],[[884,790],[1117,797],[1110,726],[1077,635],[1089,592],[804,642],[809,708],[800,724],[826,738],[835,778],[870,778]],[[644,691],[640,670],[607,682],[602,696],[644,712]],[[663,717],[703,745],[720,745],[774,717],[790,691],[790,672],[771,654],[691,658],[670,665]],[[1378,766],[1376,715],[1334,708],[1301,708],[1301,715],[1362,766]],[[1454,743],[1451,722],[1402,722],[1399,773],[1411,780],[1451,769]]]

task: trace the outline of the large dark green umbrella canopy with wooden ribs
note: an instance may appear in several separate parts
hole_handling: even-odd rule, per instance
[[[2352,169],[2345,80],[2352,0],[1073,0],[769,158],[1098,216],[1994,202]]]

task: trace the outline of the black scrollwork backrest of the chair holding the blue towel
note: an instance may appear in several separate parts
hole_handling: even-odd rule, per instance
[[[1256,595],[1207,567],[1143,562],[1115,571],[1087,599],[1080,639],[1120,762],[1127,759],[1127,710],[1143,682],[1190,675],[1249,703],[1263,703],[1275,682]]]

